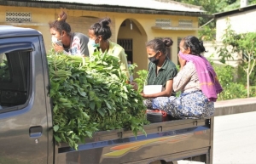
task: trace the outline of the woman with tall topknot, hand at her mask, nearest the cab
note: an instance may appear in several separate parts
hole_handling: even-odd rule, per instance
[[[67,14],[61,11],[58,20],[49,23],[49,32],[56,52],[89,56],[87,43],[89,38],[79,32],[71,32],[66,22]]]

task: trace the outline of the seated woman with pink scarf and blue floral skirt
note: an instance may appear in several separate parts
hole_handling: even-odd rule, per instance
[[[173,79],[174,92],[181,91],[177,98],[156,98],[153,108],[165,110],[177,118],[205,118],[214,113],[217,94],[222,92],[212,65],[201,53],[205,52],[203,42],[197,37],[184,37],[179,44],[178,59],[180,71]]]

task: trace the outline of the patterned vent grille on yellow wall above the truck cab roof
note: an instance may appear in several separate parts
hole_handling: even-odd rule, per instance
[[[25,12],[6,12],[5,20],[7,22],[31,22],[32,14]]]

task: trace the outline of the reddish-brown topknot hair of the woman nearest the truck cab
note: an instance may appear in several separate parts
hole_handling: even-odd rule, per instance
[[[61,34],[61,31],[66,31],[67,35],[70,35],[71,33],[71,27],[66,22],[67,20],[67,14],[64,11],[61,11],[59,14],[58,20],[55,20],[53,22],[49,22],[49,28],[55,28],[56,31],[59,31]]]

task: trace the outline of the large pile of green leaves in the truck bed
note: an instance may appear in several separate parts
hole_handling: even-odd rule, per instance
[[[119,59],[48,54],[54,138],[78,148],[96,131],[128,128],[137,135],[146,123],[143,97],[127,84]]]

